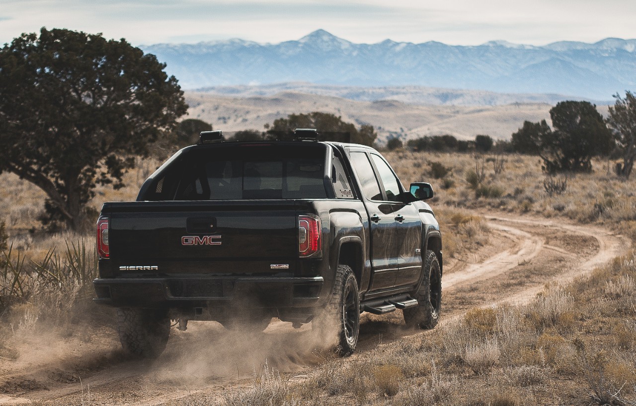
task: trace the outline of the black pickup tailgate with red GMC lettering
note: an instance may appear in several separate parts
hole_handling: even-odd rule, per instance
[[[207,272],[228,272],[219,264],[295,261],[298,214],[305,205],[296,200],[132,202],[107,204],[102,214],[110,219],[112,261],[172,264],[171,273],[197,272],[193,268],[213,262]],[[189,261],[199,264],[188,266]]]

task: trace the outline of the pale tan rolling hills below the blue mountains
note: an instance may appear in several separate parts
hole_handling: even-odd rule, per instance
[[[292,113],[321,111],[342,116],[344,121],[373,125],[379,140],[398,136],[403,141],[418,136],[452,134],[474,139],[488,134],[509,139],[524,120],[550,122],[549,103],[512,103],[494,106],[415,105],[397,100],[359,101],[349,98],[284,91],[275,95],[228,96],[186,92],[189,118],[209,122],[227,132],[263,131],[265,124]],[[600,106],[602,114],[607,108]]]

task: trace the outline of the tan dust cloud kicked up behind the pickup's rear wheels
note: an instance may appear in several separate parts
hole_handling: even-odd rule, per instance
[[[190,322],[187,331],[170,331],[167,348],[153,363],[149,377],[179,386],[252,377],[265,364],[293,372],[333,357],[328,337],[335,342],[335,332],[316,332],[311,324],[293,329],[277,318],[264,332]]]

